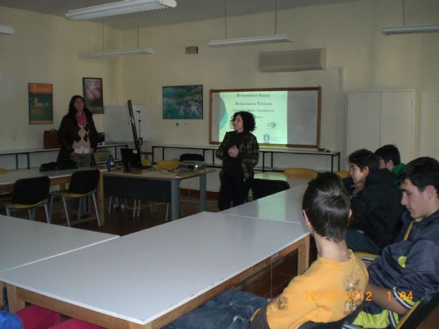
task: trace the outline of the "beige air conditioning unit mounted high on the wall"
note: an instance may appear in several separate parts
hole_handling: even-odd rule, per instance
[[[324,48],[259,53],[259,71],[294,72],[324,70],[327,56]]]

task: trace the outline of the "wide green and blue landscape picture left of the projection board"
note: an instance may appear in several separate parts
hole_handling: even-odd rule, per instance
[[[203,119],[203,86],[163,87],[163,119]]]

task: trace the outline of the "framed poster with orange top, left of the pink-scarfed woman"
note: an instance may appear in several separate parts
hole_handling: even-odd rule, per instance
[[[54,86],[29,84],[29,124],[54,123]]]

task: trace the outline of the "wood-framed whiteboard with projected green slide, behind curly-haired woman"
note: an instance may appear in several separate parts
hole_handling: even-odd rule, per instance
[[[254,114],[253,134],[261,145],[316,147],[320,87],[265,90],[211,90],[210,141],[221,142],[233,130],[235,112]]]

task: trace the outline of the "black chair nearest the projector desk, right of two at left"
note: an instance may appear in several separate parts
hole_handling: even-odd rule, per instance
[[[71,175],[69,189],[62,191],[54,191],[51,193],[50,200],[50,216],[52,215],[52,206],[54,204],[55,197],[61,197],[64,204],[64,211],[66,212],[67,225],[70,226],[69,208],[67,207],[68,199],[79,199],[78,219],[81,216],[81,199],[91,195],[95,204],[97,224],[101,226],[101,220],[99,219],[99,209],[97,208],[97,184],[99,183],[99,170],[80,170],[75,171]]]

